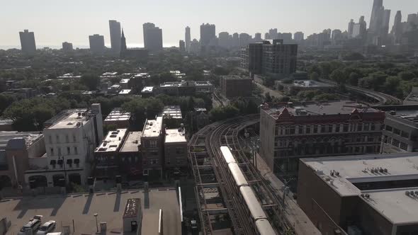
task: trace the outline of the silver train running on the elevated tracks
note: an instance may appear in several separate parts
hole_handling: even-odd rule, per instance
[[[249,186],[247,179],[242,173],[241,168],[239,168],[237,161],[235,161],[234,155],[230,151],[229,147],[222,146],[220,147],[222,152],[223,159],[227,164],[229,173],[235,180],[235,185],[237,190],[239,190],[239,196],[246,202],[247,212],[251,214],[252,222],[256,229],[256,233],[259,235],[276,235],[271,223],[264,212],[259,200],[257,200],[254,191]]]

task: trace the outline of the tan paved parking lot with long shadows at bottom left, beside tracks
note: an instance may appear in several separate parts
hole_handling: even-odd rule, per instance
[[[0,217],[11,221],[7,234],[17,234],[21,227],[33,216],[43,215],[43,223],[55,220],[55,231],[70,227],[72,234],[96,234],[98,223],[106,222],[106,234],[123,233],[123,211],[126,200],[140,198],[143,210],[142,234],[157,234],[159,209],[163,210],[164,234],[181,234],[179,204],[174,188],[152,189],[149,197],[142,190],[125,190],[121,193],[106,192],[74,195],[53,195],[24,197],[2,200]],[[74,226],[73,226],[74,225]],[[73,231],[74,229],[74,231]],[[100,230],[100,226],[98,228]]]

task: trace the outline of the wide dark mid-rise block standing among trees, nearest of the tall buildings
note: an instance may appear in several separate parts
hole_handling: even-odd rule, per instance
[[[242,67],[252,74],[288,76],[296,71],[298,45],[279,39],[250,43],[241,57]]]

